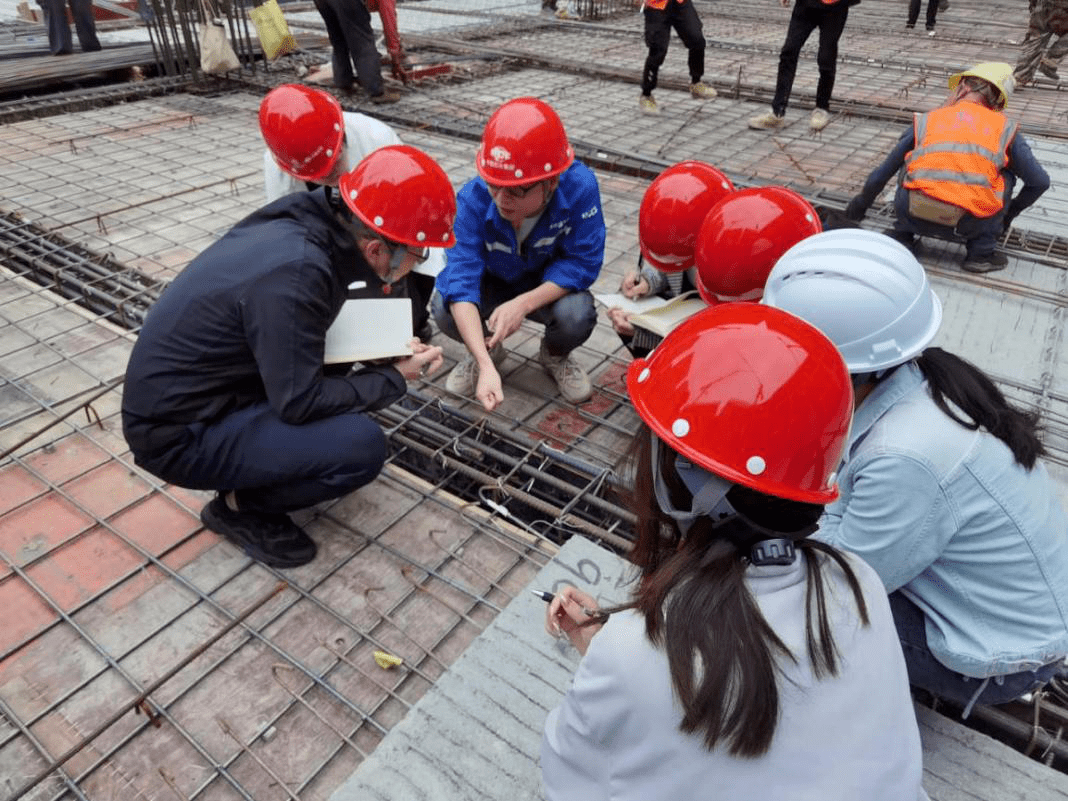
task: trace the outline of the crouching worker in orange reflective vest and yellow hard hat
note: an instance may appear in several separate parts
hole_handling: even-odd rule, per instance
[[[861,220],[890,177],[901,170],[889,234],[914,248],[917,236],[963,239],[969,272],[992,272],[1008,264],[995,250],[1012,220],[1050,188],[1017,124],[1005,115],[1012,66],[986,62],[949,78],[952,94],[941,108],[916,114],[886,160],[846,207]],[[1020,192],[1012,197],[1019,180]]]

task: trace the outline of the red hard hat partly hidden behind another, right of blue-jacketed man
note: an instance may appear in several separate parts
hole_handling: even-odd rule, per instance
[[[688,269],[702,220],[733,191],[729,178],[704,161],[680,161],[657,175],[638,211],[638,246],[645,261],[664,272]]]

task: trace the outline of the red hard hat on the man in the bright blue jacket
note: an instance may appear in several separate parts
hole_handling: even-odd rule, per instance
[[[574,160],[552,107],[536,97],[517,97],[489,117],[474,163],[487,183],[519,186],[560,175]]]

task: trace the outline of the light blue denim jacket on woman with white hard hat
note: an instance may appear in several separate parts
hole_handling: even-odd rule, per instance
[[[918,606],[940,662],[986,678],[1068,654],[1068,520],[1049,473],[942,412],[913,362],[857,409],[838,481],[816,538]]]

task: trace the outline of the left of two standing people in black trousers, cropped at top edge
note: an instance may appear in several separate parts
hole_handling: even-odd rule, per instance
[[[693,7],[693,0],[644,0],[642,7],[645,15],[645,45],[649,48],[649,54],[645,58],[645,68],[642,70],[642,96],[638,99],[638,107],[646,114],[660,113],[660,107],[653,99],[653,90],[657,88],[660,65],[668,56],[672,28],[690,51],[687,59],[690,94],[698,100],[716,97],[716,90],[701,80],[705,75],[705,35],[701,17]]]

